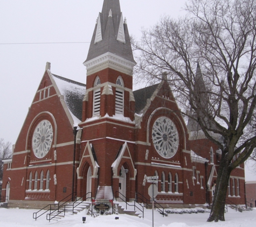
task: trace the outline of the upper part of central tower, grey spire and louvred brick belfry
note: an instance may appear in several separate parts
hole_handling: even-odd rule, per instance
[[[133,58],[119,0],[105,0],[96,20],[89,52],[82,121],[94,116],[134,118]]]

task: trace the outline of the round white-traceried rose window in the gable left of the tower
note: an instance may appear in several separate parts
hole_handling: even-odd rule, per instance
[[[32,149],[37,158],[44,158],[49,152],[53,139],[53,129],[49,120],[42,120],[34,130]]]

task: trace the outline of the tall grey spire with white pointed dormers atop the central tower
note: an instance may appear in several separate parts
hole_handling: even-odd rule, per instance
[[[84,64],[107,53],[136,63],[119,0],[104,0]]]

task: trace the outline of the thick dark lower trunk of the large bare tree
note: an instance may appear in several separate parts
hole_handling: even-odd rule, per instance
[[[229,161],[221,160],[220,166],[218,169],[216,190],[215,190],[215,195],[213,197],[212,209],[211,209],[210,217],[207,219],[207,222],[225,221],[225,217],[224,217],[225,201],[226,201],[227,187],[229,185],[230,173],[231,171],[229,168]]]

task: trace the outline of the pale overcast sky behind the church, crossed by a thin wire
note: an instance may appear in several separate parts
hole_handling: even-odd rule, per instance
[[[120,0],[130,35],[161,16],[184,15],[185,0]],[[0,138],[15,144],[45,71],[86,83],[87,57],[103,0],[0,0]],[[80,44],[28,44],[85,42]],[[256,180],[247,174],[246,180]],[[250,178],[249,178],[250,176]]]

